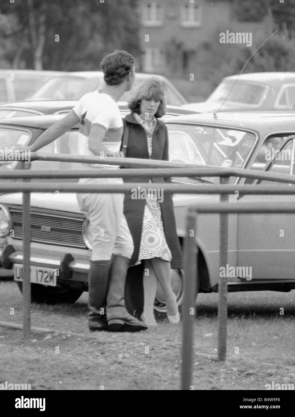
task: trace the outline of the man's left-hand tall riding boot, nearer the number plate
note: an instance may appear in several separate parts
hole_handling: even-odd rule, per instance
[[[109,286],[110,261],[90,261],[88,274],[90,330],[107,330],[107,290]]]

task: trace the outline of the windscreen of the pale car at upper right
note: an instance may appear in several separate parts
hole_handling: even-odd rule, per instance
[[[223,103],[226,100],[234,103],[258,105],[266,90],[267,85],[264,84],[226,80],[218,85],[207,100],[219,103]]]

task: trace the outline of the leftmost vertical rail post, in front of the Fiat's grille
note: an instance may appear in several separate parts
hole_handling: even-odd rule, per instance
[[[23,169],[30,169],[29,163],[22,163]],[[30,180],[24,180],[30,181]],[[23,296],[23,336],[26,337],[30,333],[31,319],[31,283],[30,283],[30,256],[31,256],[31,221],[30,221],[30,192],[22,193],[22,236],[23,236],[23,266],[24,277],[22,281]]]

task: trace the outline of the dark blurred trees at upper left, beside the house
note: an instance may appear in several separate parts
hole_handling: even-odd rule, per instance
[[[97,70],[114,49],[140,54],[137,0],[22,0],[0,5],[0,58],[14,68]]]

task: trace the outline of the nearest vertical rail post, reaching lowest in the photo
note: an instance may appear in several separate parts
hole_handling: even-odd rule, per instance
[[[186,216],[186,237],[184,242],[184,296],[182,304],[182,371],[181,389],[191,389],[193,365],[193,324],[196,309],[196,246],[197,215],[189,211]]]

